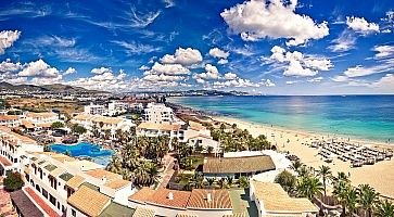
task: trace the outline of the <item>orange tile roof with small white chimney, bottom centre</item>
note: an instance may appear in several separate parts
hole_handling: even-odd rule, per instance
[[[188,203],[188,208],[232,209],[232,205],[227,190],[193,189]]]

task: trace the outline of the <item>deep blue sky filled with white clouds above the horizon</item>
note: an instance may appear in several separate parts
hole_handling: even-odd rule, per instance
[[[1,1],[0,80],[394,93],[394,1]]]

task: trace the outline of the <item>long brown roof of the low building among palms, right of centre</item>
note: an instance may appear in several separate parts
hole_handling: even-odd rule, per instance
[[[208,158],[203,165],[204,174],[239,174],[274,170],[270,156]]]

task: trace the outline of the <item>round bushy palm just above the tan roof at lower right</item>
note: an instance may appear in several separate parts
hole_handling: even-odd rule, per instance
[[[316,177],[303,177],[298,181],[297,191],[302,196],[312,200],[315,195],[321,195],[323,186],[320,180]]]

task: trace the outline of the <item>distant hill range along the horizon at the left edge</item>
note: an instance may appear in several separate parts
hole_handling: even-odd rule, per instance
[[[35,85],[11,85],[9,82],[2,81],[0,82],[0,91],[29,91],[29,92],[105,92],[105,91],[97,91],[97,90],[88,90],[81,87],[74,87],[62,84],[53,84],[53,85],[43,85],[43,86],[35,86]]]

